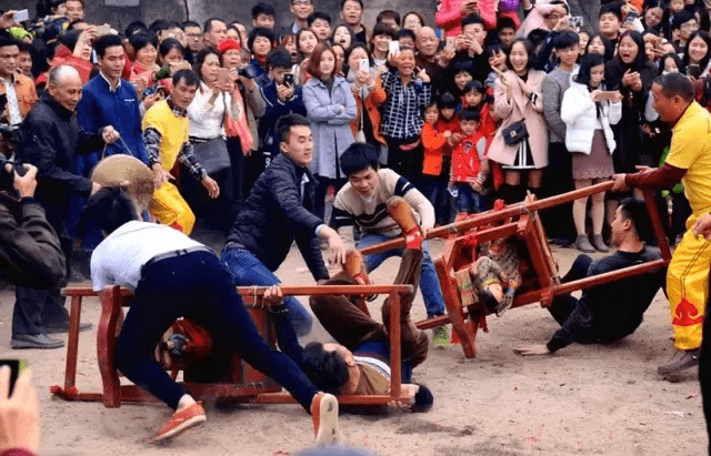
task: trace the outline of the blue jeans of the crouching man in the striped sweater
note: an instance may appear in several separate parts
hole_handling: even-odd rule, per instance
[[[390,241],[393,237],[385,236],[379,233],[365,232],[358,243],[358,249],[364,249],[371,245],[380,244],[381,242]],[[375,270],[380,264],[391,256],[402,257],[404,249],[393,249],[385,252],[373,253],[365,255],[365,267],[368,272]],[[422,292],[422,301],[424,301],[424,308],[427,308],[427,317],[433,317],[437,315],[444,315],[444,298],[442,297],[442,290],[440,288],[440,281],[437,278],[437,272],[434,272],[434,265],[432,264],[432,256],[427,247],[427,241],[422,243],[422,272],[420,273],[420,291]]]

